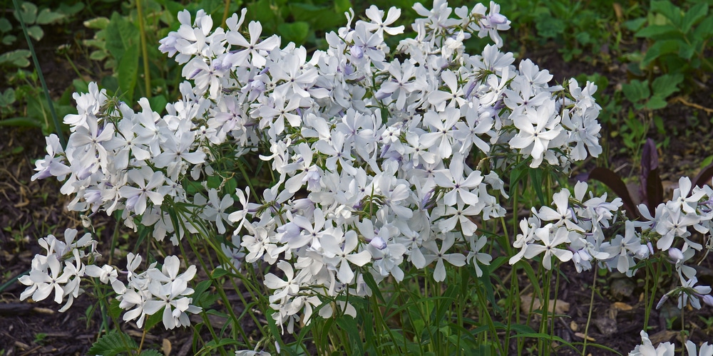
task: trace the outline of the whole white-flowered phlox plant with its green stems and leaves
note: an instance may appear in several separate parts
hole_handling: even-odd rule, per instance
[[[553,268],[568,262],[628,276],[670,263],[682,283],[665,298],[711,304],[686,263],[704,249],[689,228],[709,234],[713,191],[686,179],[647,221],[579,183],[508,234],[506,203],[519,209],[528,172],[544,204],[550,173],[602,152],[597,88],[550,85],[526,59],[515,66],[498,35],[510,22],[493,2],[414,9],[413,36],[394,48],[384,38],[404,33],[401,11],[371,6],[364,20],[347,13],[314,53],[263,38],[245,10],[225,28],[180,12],[160,41],[183,66],[180,100],[163,116],[146,99],[135,111],[91,83],[64,118],[68,145],[47,137],[33,177],[63,182],[88,231],[93,216],[113,214],[157,248],[120,267],[103,263],[91,233],[47,236],[21,298],[66,310],[84,288],[100,290],[123,322],[190,325],[195,352],[236,355],[507,354],[526,337],[549,353],[564,340],[548,335],[550,319],[535,331],[520,315],[517,272],[542,278],[546,304]],[[493,44],[471,55],[472,36]],[[508,261],[506,285],[491,272]],[[230,327],[214,328],[209,311]]]

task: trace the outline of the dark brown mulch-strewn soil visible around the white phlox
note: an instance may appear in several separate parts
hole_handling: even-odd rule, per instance
[[[71,66],[56,56],[56,43],[65,42],[68,33],[59,36],[63,37],[47,36],[38,47],[41,67],[54,97],[61,95],[75,78]],[[91,33],[75,36],[91,36]],[[612,78],[619,78],[621,82],[627,79],[625,66],[615,59],[595,67],[585,62],[565,62],[555,47],[552,44],[531,50],[528,57],[538,63],[540,68],[547,68],[556,75],[555,80],[559,83],[564,78],[580,73],[599,72],[607,75],[612,82],[609,88],[600,90],[613,93],[620,83],[615,83],[616,80]],[[81,61],[81,56],[76,56],[73,60]],[[712,84],[711,80],[704,83],[707,90],[693,93],[690,98],[686,98],[687,103],[711,108],[713,105],[709,93]],[[693,177],[700,169],[702,160],[713,155],[713,138],[709,135],[711,115],[680,102],[670,104],[657,114],[665,118],[667,134],[670,135],[668,147],[659,151],[662,178],[668,186],[674,187],[678,177],[682,174]],[[696,122],[694,119],[697,125],[692,125]],[[657,142],[666,139],[656,130],[650,132]],[[676,135],[671,135],[671,132]],[[612,152],[602,157],[609,162],[609,167],[617,167],[621,172],[630,172],[629,175],[636,176],[638,165],[632,162],[629,152],[620,150],[620,147],[624,147],[621,139],[610,137],[609,132],[604,132],[602,140],[609,145],[607,152]],[[34,160],[43,157],[44,150],[45,142],[39,130],[21,127],[4,127],[0,130],[0,286],[29,270],[34,254],[41,252],[37,239],[45,236],[48,231],[61,233],[67,227],[81,226],[77,216],[66,211],[68,199],[59,194],[57,182],[52,179],[32,182],[30,179]],[[586,172],[596,164],[595,160],[590,160],[579,167],[578,171]],[[98,225],[99,238],[109,241],[116,228],[113,219],[94,222]],[[130,234],[130,231],[124,231],[120,226],[118,229],[120,234]],[[697,268],[700,284],[713,285],[713,257],[706,258]],[[583,342],[580,333],[585,333],[590,313],[590,286],[595,283],[594,274],[577,273],[570,264],[564,264],[560,272],[558,303],[568,303],[569,308],[564,312],[566,317],[555,319],[555,335],[567,341]],[[526,286],[529,281],[521,276],[521,283]],[[667,287],[667,283],[675,281],[667,281],[662,289]],[[593,337],[590,342],[607,345],[623,354],[640,343],[639,333],[644,322],[644,286],[643,276],[632,279],[617,278],[611,273],[597,276],[593,322],[588,330],[588,335]],[[102,330],[101,313],[98,310],[87,313],[96,303],[88,295],[78,298],[66,313],[58,313],[56,310],[59,306],[51,301],[20,301],[19,295],[24,290],[20,283],[11,283],[0,289],[0,353],[4,351],[4,355],[84,355]],[[677,313],[677,310],[672,311],[668,307],[652,311],[650,325],[653,328],[650,335],[659,333],[658,341],[670,341],[678,337],[676,330],[682,325]],[[672,321],[667,323],[667,320]],[[702,310],[685,310],[685,324],[686,330],[690,332],[690,340],[713,340],[713,308],[704,306]],[[125,331],[134,335],[136,340],[140,338],[140,328],[135,325],[128,326]],[[146,342],[148,347],[162,350],[166,355],[189,355],[192,352],[192,335],[190,329],[167,332],[155,328],[147,336]],[[592,355],[615,355],[593,346],[587,350]],[[558,349],[558,353],[579,354],[563,348]]]

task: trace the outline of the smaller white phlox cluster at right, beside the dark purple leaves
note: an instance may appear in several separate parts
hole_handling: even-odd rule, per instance
[[[692,231],[697,231],[700,239],[709,241],[705,249],[713,248],[711,231],[713,224],[713,189],[709,185],[692,187],[688,177],[679,179],[679,187],[674,189],[673,198],[660,204],[655,214],[650,214],[647,206],[637,206],[644,217],[641,221],[623,218],[619,209],[620,198],[607,202],[606,194],[585,200],[588,186],[585,182],[575,185],[574,197],[567,189],[553,195],[555,209],[543,206],[533,208],[533,216],[520,221],[522,234],[513,246],[520,252],[510,259],[515,263],[521,258],[533,258],[544,252],[543,266],[552,267],[553,256],[560,261],[573,261],[577,271],[592,268],[593,263],[610,271],[616,269],[627,276],[637,271],[637,260],[643,261],[655,256],[657,251],[666,253],[667,259],[677,271],[681,286],[666,293],[660,300],[660,308],[668,298],[676,296],[678,307],[690,304],[701,308],[699,298],[713,306],[713,295],[709,286],[696,286],[696,269],[687,266],[696,252],[704,249],[692,239]],[[621,229],[614,229],[617,218]],[[623,225],[623,226],[622,226]],[[614,230],[608,239],[605,230]],[[620,234],[623,232],[623,234]],[[707,253],[707,252],[706,252]]]

